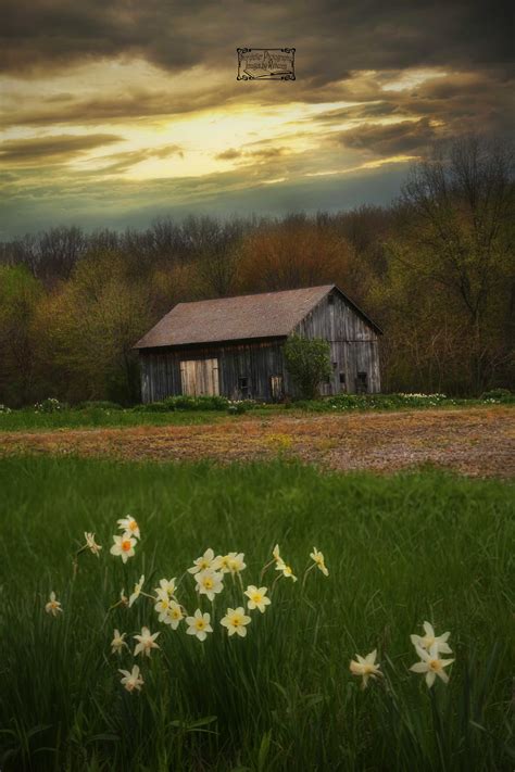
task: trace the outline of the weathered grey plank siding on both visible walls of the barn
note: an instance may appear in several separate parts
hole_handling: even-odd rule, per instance
[[[329,299],[332,299],[331,301]],[[323,338],[330,343],[332,378],[323,384],[323,394],[355,393],[360,375],[366,374],[368,393],[380,392],[378,334],[338,291],[324,298],[293,330],[306,338]],[[248,396],[272,400],[272,377],[280,377],[286,394],[297,396],[285,368],[285,339],[241,341],[180,349],[147,349],[140,351],[141,396],[155,402],[183,394],[180,363],[218,360],[219,393],[241,398],[239,379],[248,379]],[[201,368],[200,368],[201,369]],[[341,379],[344,382],[341,382]]]

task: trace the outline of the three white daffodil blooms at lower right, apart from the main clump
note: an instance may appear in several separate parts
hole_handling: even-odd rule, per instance
[[[424,622],[425,635],[411,635],[411,642],[415,647],[415,651],[418,655],[419,662],[415,662],[410,668],[414,673],[423,673],[426,676],[426,684],[431,688],[435,683],[435,679],[438,678],[443,681],[443,683],[449,682],[449,675],[445,673],[444,668],[448,668],[454,659],[441,659],[440,654],[452,654],[449,644],[447,643],[451,633],[443,633],[443,635],[437,636],[432,625],[429,622]],[[370,651],[366,657],[361,657],[356,654],[356,658],[351,660],[350,671],[353,675],[359,675],[362,678],[362,688],[365,688],[368,679],[382,678],[380,672],[380,665],[376,665],[377,650]]]

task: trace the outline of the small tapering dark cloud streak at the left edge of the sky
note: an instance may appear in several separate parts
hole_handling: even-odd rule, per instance
[[[123,137],[112,134],[59,135],[30,137],[29,139],[7,139],[0,142],[0,161],[10,164],[35,164],[39,162],[64,163],[70,159],[112,142]]]

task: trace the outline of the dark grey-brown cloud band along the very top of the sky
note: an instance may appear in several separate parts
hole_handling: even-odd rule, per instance
[[[4,0],[0,67],[142,56],[169,71],[231,69],[237,46],[296,46],[299,77],[321,86],[355,69],[508,63],[511,24],[503,0]]]

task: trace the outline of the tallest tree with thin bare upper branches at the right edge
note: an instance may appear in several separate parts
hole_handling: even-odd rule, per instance
[[[507,143],[468,137],[437,149],[404,186],[403,243],[391,250],[393,260],[439,288],[462,318],[476,393],[513,356],[513,172]]]

